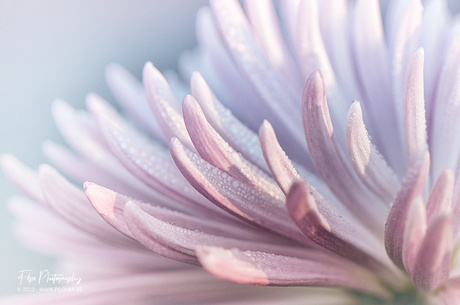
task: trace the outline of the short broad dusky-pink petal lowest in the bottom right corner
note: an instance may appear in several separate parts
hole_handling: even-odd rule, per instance
[[[451,214],[442,214],[428,227],[412,272],[417,287],[433,290],[449,277],[453,247],[452,221]]]

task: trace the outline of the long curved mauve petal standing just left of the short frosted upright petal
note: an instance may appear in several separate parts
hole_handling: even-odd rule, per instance
[[[305,85],[302,113],[308,148],[319,175],[358,219],[375,232],[380,232],[386,208],[362,184],[335,140],[324,82],[319,72],[310,76]],[[369,202],[374,204],[369,205]]]

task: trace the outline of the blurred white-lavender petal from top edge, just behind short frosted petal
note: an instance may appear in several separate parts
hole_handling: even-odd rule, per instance
[[[352,16],[352,43],[356,71],[362,84],[363,108],[369,115],[370,132],[380,152],[398,174],[404,171],[402,154],[398,150],[400,125],[399,108],[388,103],[392,90],[390,64],[377,0],[359,0]],[[395,144],[396,143],[396,144]]]

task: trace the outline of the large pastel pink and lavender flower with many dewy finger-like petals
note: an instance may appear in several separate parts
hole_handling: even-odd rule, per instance
[[[21,237],[86,280],[34,303],[458,303],[458,21],[436,0],[392,1],[385,30],[376,0],[320,4],[279,22],[212,0],[190,85],[112,65],[127,118],[57,101],[75,152],[44,152],[84,190],[3,157],[33,201],[12,205]]]

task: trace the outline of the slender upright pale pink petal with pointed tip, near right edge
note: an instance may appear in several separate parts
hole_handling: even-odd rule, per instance
[[[424,51],[419,48],[412,56],[406,74],[403,97],[403,125],[406,157],[409,166],[427,149],[425,98],[423,94]]]

